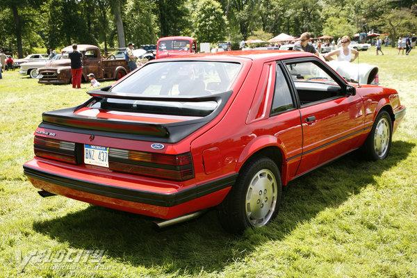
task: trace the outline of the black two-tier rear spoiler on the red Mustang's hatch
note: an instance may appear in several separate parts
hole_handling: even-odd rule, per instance
[[[85,104],[82,104],[81,106],[42,113],[42,123],[40,124],[40,127],[44,129],[88,133],[97,136],[174,143],[182,140],[190,135],[190,133],[193,133],[204,126],[204,124],[213,120],[213,118],[222,111],[232,94],[232,91],[227,91],[221,94],[202,97],[140,97],[133,94],[108,93],[103,89],[88,92],[88,94],[92,96],[92,99],[86,101],[85,104],[88,104],[97,98],[111,97],[149,101],[216,101],[218,106],[210,115],[199,119],[169,124],[149,124],[145,122],[103,119],[74,114],[74,111],[85,106]]]

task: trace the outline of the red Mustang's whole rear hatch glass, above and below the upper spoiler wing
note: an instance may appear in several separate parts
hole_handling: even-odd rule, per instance
[[[115,95],[154,97],[149,100],[104,98],[93,101],[90,108],[137,113],[205,117],[219,103],[207,99],[227,92],[240,70],[239,63],[211,61],[172,61],[149,63],[117,83],[108,92]],[[165,99],[158,100],[158,97]],[[172,101],[167,101],[166,98]],[[181,101],[178,98],[181,97]],[[186,101],[187,98],[195,98]]]

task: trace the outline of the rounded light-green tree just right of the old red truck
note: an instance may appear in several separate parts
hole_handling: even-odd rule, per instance
[[[226,35],[226,19],[220,3],[203,0],[193,13],[194,32],[199,42],[222,42]]]

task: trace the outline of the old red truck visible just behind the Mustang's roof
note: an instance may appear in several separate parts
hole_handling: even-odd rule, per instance
[[[197,41],[191,37],[164,37],[156,44],[156,59],[197,53]]]

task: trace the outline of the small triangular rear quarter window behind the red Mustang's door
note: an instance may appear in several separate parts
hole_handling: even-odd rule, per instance
[[[291,97],[291,91],[284,73],[279,65],[276,68],[274,98],[272,99],[271,108],[272,115],[294,108],[293,98]]]

